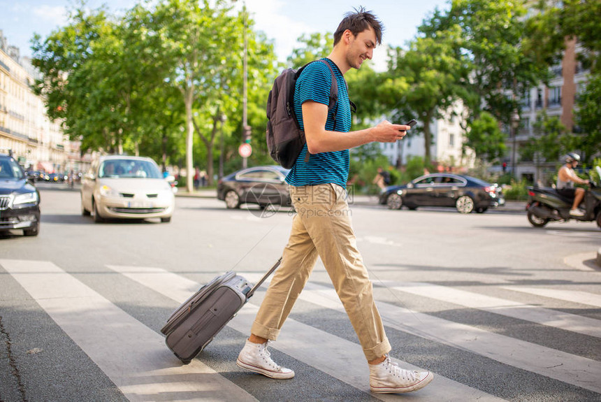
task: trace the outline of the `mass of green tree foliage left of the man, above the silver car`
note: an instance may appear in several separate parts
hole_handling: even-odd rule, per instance
[[[34,38],[33,64],[44,76],[35,90],[83,150],[143,152],[178,165],[185,156],[187,171],[201,157],[212,180],[216,138],[226,137],[229,157],[240,143],[245,26],[248,117],[256,133],[265,129],[257,105],[276,62],[273,45],[252,24],[226,1],[140,3],[118,19],[80,5],[65,27]]]

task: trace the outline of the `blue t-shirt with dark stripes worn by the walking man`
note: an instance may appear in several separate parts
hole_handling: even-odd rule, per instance
[[[338,106],[334,106],[328,112],[326,130],[334,130],[333,114],[336,113],[335,131],[348,132],[351,129],[351,107],[349,105],[349,94],[347,84],[338,66],[330,59],[324,59],[334,71],[338,82]],[[330,89],[332,86],[332,73],[323,62],[314,62],[305,67],[301,76],[296,80],[296,92],[294,93],[294,112],[301,129],[303,124],[303,103],[315,101],[329,104]],[[321,185],[335,183],[347,187],[349,176],[349,150],[335,152],[321,152],[311,154],[309,161],[305,163],[307,155],[307,144],[303,146],[301,154],[298,155],[296,163],[286,177],[289,185],[301,187],[305,185]]]

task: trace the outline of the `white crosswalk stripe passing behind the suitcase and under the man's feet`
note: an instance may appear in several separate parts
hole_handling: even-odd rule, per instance
[[[113,265],[108,266],[108,268],[178,303],[187,300],[191,292],[194,292],[200,286],[197,282],[161,268]],[[245,276],[248,278],[247,275]],[[236,329],[236,331],[248,334],[257,310],[256,306],[247,303],[238,312],[238,315],[229,322],[228,326]],[[303,336],[299,337],[298,334],[301,333]],[[319,339],[319,348],[310,342],[312,339]],[[317,368],[333,378],[368,392],[368,366],[365,363],[361,346],[356,343],[289,318],[286,321],[286,331],[282,331],[280,337],[277,338],[277,342],[271,347],[288,354],[294,359],[303,361],[305,364]],[[405,361],[399,361],[398,359],[393,359],[393,361],[398,362],[404,368],[420,369]],[[502,401],[496,396],[468,387],[461,384],[461,382],[444,378],[442,375],[435,375],[435,384],[435,387],[421,389],[419,395],[427,401]],[[398,396],[394,395],[372,396],[383,401],[398,401]]]

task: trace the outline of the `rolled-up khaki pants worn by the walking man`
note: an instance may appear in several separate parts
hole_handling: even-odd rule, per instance
[[[391,347],[375,306],[372,283],[357,250],[346,190],[333,184],[291,186],[290,195],[296,210],[290,239],[251,332],[261,338],[277,338],[319,256],[359,336],[365,357],[368,361],[382,357]],[[313,341],[319,345],[318,339]]]

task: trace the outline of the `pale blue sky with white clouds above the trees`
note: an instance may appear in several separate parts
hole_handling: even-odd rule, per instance
[[[115,14],[122,14],[138,0],[88,0],[89,8],[103,4]],[[264,31],[275,44],[277,58],[285,62],[296,48],[302,34],[333,32],[345,13],[365,6],[384,24],[382,46],[376,48],[375,69],[386,66],[386,46],[404,46],[417,34],[425,17],[439,8],[449,8],[448,0],[245,0],[255,20],[257,30]],[[31,57],[29,46],[34,34],[47,37],[67,22],[68,8],[73,0],[0,0],[0,30],[9,45],[20,48],[23,56]],[[238,0],[238,6],[242,1]]]

